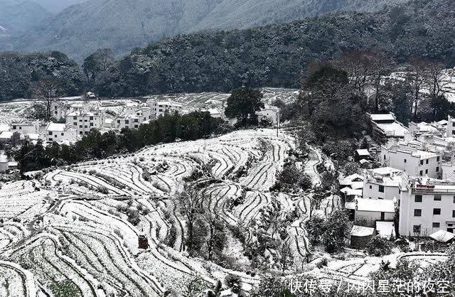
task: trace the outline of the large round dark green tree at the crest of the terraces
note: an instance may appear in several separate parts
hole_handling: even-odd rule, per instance
[[[260,90],[242,87],[233,90],[228,98],[225,114],[230,119],[236,118],[241,126],[257,124],[256,112],[264,108]]]

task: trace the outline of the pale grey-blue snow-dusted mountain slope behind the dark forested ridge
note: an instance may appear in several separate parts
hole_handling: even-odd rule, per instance
[[[249,28],[330,11],[377,11],[385,4],[405,1],[90,0],[68,7],[11,43],[14,50],[60,50],[82,61],[98,48],[112,48],[122,55],[180,33]]]

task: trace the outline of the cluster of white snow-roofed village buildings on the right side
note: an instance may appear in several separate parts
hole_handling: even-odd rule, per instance
[[[351,246],[375,235],[455,237],[455,119],[409,124],[393,114],[368,114],[373,139],[383,144],[355,151],[365,168],[340,180],[354,226]],[[374,157],[373,157],[374,156]],[[396,215],[397,214],[397,215]]]

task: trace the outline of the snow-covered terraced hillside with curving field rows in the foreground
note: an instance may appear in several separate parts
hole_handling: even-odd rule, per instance
[[[296,265],[304,263],[312,252],[304,228],[311,192],[269,191],[293,149],[294,139],[285,132],[277,137],[272,129],[236,131],[144,148],[4,184],[0,292],[2,296],[186,296],[195,279],[210,287],[228,274],[240,276],[243,290],[251,291],[260,274],[189,257],[187,222],[177,197],[189,180],[203,185],[198,188],[200,195],[210,209],[220,210],[225,225],[245,228],[245,245],[258,241],[254,222],[262,220],[262,210],[280,205],[280,215],[295,214],[286,240]],[[316,165],[322,158],[314,149],[304,163],[314,183],[319,183]],[[328,215],[338,207],[340,199],[333,195],[316,211]],[[149,247],[140,249],[139,239],[146,239]],[[241,246],[230,236],[227,253],[240,257],[239,262]],[[333,263],[318,276],[361,281],[363,275],[348,275],[340,267],[379,266],[378,260],[360,262]]]

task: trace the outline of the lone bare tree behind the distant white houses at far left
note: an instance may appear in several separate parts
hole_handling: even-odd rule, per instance
[[[52,117],[52,104],[60,95],[62,95],[62,85],[57,77],[46,76],[33,85],[33,96],[43,101],[47,119]]]

